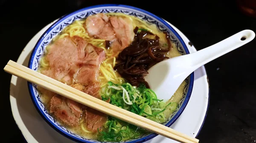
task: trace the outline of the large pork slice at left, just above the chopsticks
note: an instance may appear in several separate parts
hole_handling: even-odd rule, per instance
[[[49,69],[41,71],[42,74],[68,85],[81,83],[88,86],[99,82],[99,66],[106,55],[103,49],[74,36],[56,40],[46,57]]]

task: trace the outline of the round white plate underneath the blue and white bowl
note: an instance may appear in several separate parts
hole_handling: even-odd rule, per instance
[[[52,25],[52,23],[44,27],[29,41],[21,52],[17,63],[28,66],[32,49],[44,31],[46,31],[49,26]],[[170,25],[183,38],[184,42],[187,44],[189,52],[195,52],[195,47],[188,44],[188,38],[186,38],[186,36],[182,34],[175,26],[172,24]],[[189,103],[171,128],[191,137],[196,137],[206,117],[208,99],[209,84],[207,82],[206,71],[204,66],[202,66],[195,71],[195,81]],[[52,127],[49,126],[40,116],[30,98],[26,80],[12,76],[10,86],[10,102],[13,117],[28,143],[74,143],[72,140],[64,137],[52,129]],[[176,141],[158,135],[145,143],[176,143]]]

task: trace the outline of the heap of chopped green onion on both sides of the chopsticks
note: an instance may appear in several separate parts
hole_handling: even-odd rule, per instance
[[[174,112],[177,109],[177,103],[168,103],[157,99],[157,95],[151,89],[147,89],[145,84],[138,87],[130,83],[114,84],[108,82],[100,90],[102,100],[108,100],[119,108],[139,114],[157,123],[164,123],[167,118],[165,110]],[[172,111],[173,110],[173,111]],[[169,112],[168,112],[169,113]],[[145,129],[126,123],[115,117],[109,116],[104,124],[102,131],[99,131],[99,140],[102,142],[119,142],[140,137],[141,134],[148,133]]]

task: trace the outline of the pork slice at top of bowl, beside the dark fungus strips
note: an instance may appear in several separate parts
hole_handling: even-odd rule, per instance
[[[129,46],[134,38],[132,21],[126,17],[95,14],[87,17],[84,28],[90,36],[110,41],[112,56]]]

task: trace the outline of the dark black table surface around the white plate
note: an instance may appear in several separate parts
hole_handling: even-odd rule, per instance
[[[44,26],[64,14],[104,3],[136,6],[168,20],[196,49],[215,44],[241,30],[256,31],[256,19],[241,14],[234,0],[2,0],[0,3],[1,68],[17,61],[22,49]],[[206,64],[209,110],[198,135],[201,143],[256,142],[256,39]],[[11,75],[2,70],[1,140],[25,142],[11,112]]]

